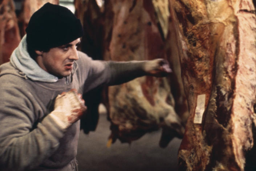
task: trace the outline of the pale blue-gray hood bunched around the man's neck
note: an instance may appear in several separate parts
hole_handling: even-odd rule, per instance
[[[27,34],[22,38],[19,46],[13,51],[10,58],[11,64],[33,81],[57,82],[58,77],[43,70],[36,61],[29,56],[26,38]]]

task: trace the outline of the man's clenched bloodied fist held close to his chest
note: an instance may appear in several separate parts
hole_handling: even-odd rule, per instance
[[[66,128],[78,121],[86,109],[82,95],[72,89],[56,97],[54,110],[50,114],[59,125]]]

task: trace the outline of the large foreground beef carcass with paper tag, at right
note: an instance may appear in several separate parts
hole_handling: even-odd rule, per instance
[[[179,170],[255,170],[252,0],[170,0],[190,117]]]

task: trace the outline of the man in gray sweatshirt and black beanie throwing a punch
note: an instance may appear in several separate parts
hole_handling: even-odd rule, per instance
[[[0,66],[1,170],[77,170],[81,94],[136,77],[165,76],[166,61],[94,61],[77,51],[80,20],[45,4],[29,21],[10,62]],[[86,154],[85,154],[86,155]]]

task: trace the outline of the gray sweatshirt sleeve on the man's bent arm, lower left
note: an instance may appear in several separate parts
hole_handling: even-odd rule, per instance
[[[2,77],[9,77],[3,79]],[[37,123],[40,110],[27,85],[15,84],[16,76],[0,81],[0,168],[30,170],[49,158],[59,146],[65,130],[46,116]],[[8,81],[7,81],[8,80]],[[38,103],[37,103],[38,104]]]

